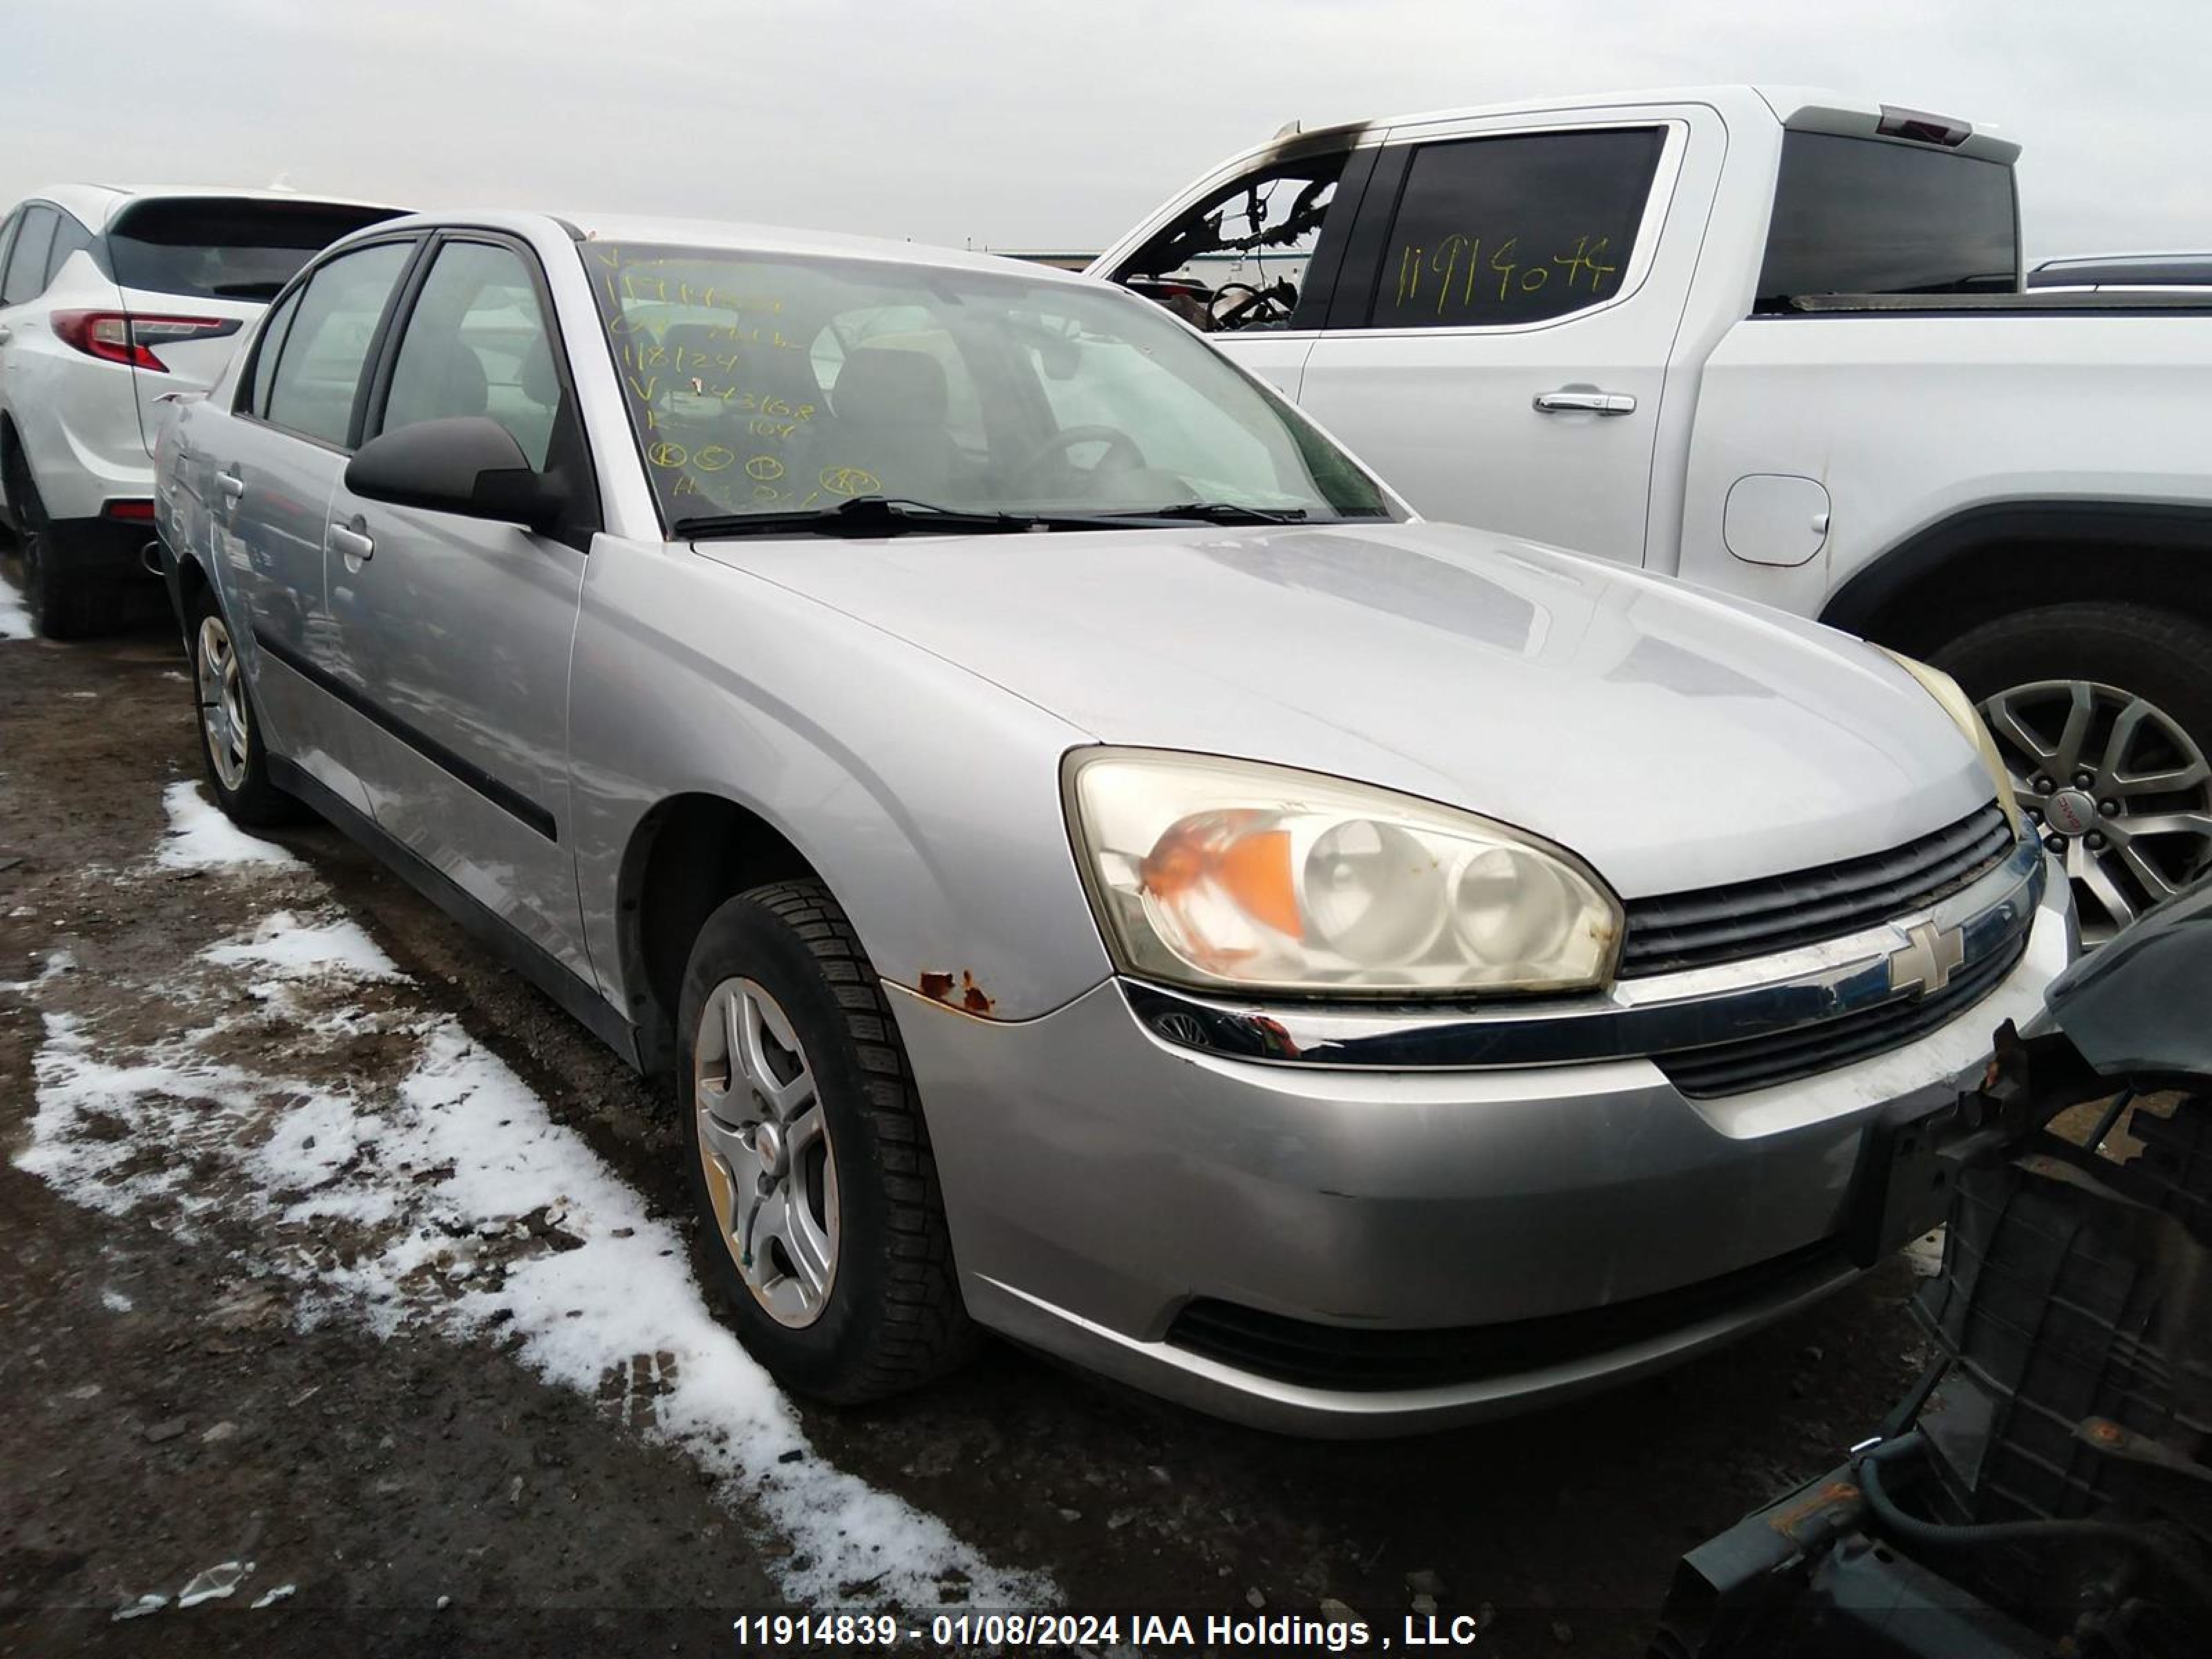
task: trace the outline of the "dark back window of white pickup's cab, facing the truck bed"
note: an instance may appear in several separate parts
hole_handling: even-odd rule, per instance
[[[2004,294],[2020,281],[2013,170],[1924,144],[1783,135],[1759,312],[1803,294]]]

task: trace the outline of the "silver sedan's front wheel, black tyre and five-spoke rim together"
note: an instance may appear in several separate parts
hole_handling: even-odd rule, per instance
[[[830,889],[776,883],[717,909],[684,969],[677,1031],[706,1270],[752,1356],[845,1405],[964,1358],[922,1104]]]

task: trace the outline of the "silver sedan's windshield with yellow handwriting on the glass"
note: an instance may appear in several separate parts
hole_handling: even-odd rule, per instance
[[[1106,288],[586,243],[670,526],[887,495],[964,513],[1385,518],[1301,416]]]

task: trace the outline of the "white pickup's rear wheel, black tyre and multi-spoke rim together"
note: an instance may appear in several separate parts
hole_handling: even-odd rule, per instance
[[[2044,606],[1933,661],[1982,706],[2086,945],[2212,867],[2212,628],[2143,604]]]

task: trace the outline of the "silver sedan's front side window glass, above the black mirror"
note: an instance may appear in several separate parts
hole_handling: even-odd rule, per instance
[[[520,254],[480,241],[438,250],[400,336],[383,431],[489,416],[544,471],[560,414],[560,369]]]

